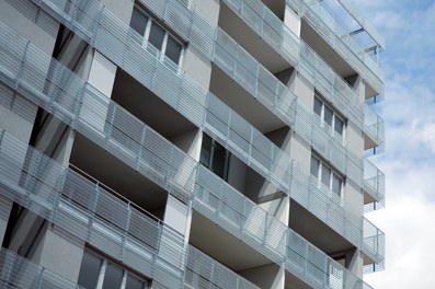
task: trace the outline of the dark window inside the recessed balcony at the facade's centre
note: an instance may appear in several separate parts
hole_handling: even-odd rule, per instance
[[[203,137],[199,162],[227,181],[230,152],[207,135]]]

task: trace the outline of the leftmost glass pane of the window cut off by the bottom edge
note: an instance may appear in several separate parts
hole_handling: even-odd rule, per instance
[[[87,289],[94,289],[99,280],[102,259],[84,251],[81,259],[79,285]]]

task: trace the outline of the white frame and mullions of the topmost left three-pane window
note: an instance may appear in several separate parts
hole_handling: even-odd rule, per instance
[[[179,59],[179,62],[175,63],[175,66],[178,67],[178,72],[180,72],[180,68],[183,66],[185,45],[175,35],[173,35],[167,28],[164,28],[162,25],[160,25],[160,23],[158,21],[156,21],[152,16],[150,16],[150,14],[148,14],[140,5],[135,4],[133,9],[137,9],[140,13],[142,13],[144,15],[146,15],[148,18],[147,25],[145,26],[144,35],[141,35],[144,37],[144,41],[142,41],[144,48],[147,48],[148,45],[152,46],[152,44],[149,43],[149,34],[151,31],[152,22],[154,22],[157,25],[159,25],[164,31],[162,47],[159,51],[159,60],[160,61],[165,61],[165,58],[168,58],[172,63],[175,63],[172,59],[170,59],[165,55],[169,36],[171,36],[178,44],[181,45],[180,59]]]

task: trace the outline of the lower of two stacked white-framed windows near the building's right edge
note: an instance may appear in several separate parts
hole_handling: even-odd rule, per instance
[[[313,176],[320,180],[323,185],[334,192],[336,195],[342,195],[343,178],[335,173],[331,167],[325,165],[318,158],[311,155],[311,167],[310,172]]]

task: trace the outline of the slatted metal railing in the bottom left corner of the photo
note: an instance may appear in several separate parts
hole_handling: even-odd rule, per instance
[[[0,287],[33,289],[82,288],[4,247],[0,251]]]

